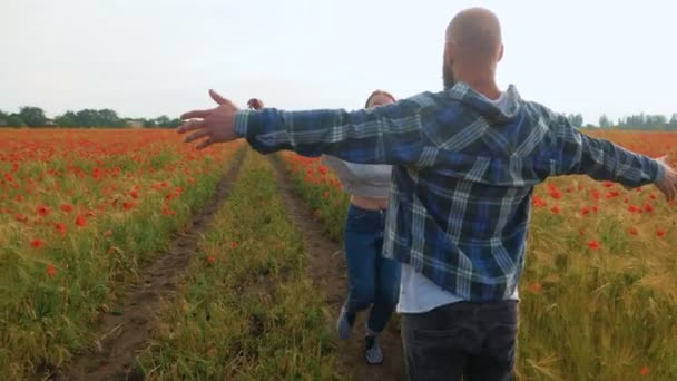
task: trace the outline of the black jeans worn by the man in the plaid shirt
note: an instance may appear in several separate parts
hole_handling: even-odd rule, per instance
[[[516,301],[452,303],[402,314],[402,344],[412,381],[513,379]]]

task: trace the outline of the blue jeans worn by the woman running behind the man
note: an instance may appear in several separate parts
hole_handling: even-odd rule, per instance
[[[372,306],[367,325],[374,332],[383,331],[400,296],[400,263],[381,254],[384,223],[385,211],[367,211],[352,204],[345,223],[345,307],[354,316]]]

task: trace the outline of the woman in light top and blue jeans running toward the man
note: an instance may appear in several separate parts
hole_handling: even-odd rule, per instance
[[[395,98],[376,90],[366,99],[365,108],[389,105]],[[248,106],[263,108],[258,99]],[[400,264],[384,258],[383,229],[391,184],[389,165],[365,165],[323,155],[322,164],[333,168],[343,189],[351,194],[344,227],[345,260],[349,271],[349,293],[336,322],[341,339],[351,335],[359,312],[369,310],[365,326],[364,356],[370,364],[383,362],[379,334],[393,314],[400,293]]]

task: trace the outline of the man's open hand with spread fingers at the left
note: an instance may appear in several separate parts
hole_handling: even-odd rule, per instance
[[[235,140],[235,113],[237,107],[228,99],[209,90],[209,96],[218,104],[218,107],[208,110],[193,110],[181,115],[181,119],[190,119],[178,127],[178,134],[195,131],[184,139],[185,143],[195,141],[206,137],[195,147],[206,148],[215,143]]]

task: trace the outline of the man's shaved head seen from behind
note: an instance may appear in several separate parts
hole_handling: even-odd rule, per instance
[[[444,87],[452,87],[459,78],[491,77],[503,56],[501,25],[498,17],[483,8],[470,8],[458,13],[447,27]]]

